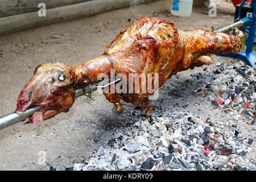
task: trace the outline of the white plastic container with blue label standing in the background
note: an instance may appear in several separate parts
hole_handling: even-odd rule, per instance
[[[175,16],[188,17],[192,14],[193,0],[172,0],[171,14]]]

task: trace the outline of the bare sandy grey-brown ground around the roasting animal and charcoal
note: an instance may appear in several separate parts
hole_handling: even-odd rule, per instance
[[[1,37],[0,115],[15,110],[16,98],[36,65],[61,61],[73,66],[93,59],[105,51],[105,46],[120,31],[143,15],[172,20],[180,30],[195,27],[211,30],[211,27],[232,23],[234,7],[222,1],[216,2],[220,2],[217,4],[216,17],[210,17],[206,8],[197,8],[190,18],[179,18],[168,13],[168,1],[158,1]],[[220,58],[214,56],[214,60]],[[168,82],[181,86],[180,82],[191,80],[190,74],[199,70],[201,68],[178,73],[178,78],[171,78]],[[166,86],[160,89],[159,100],[165,98],[166,89]],[[220,110],[202,112],[210,104],[205,98],[195,97],[193,90],[195,88],[191,85],[186,91],[185,100],[174,97],[170,102],[180,105],[187,103],[186,110],[201,117],[228,118]],[[199,102],[201,105],[196,104]],[[158,101],[154,104],[157,105]],[[122,127],[119,123],[129,119],[127,115],[131,115],[135,106],[125,104],[121,115],[114,114],[112,107],[103,95],[94,92],[92,99],[86,96],[77,98],[68,113],[44,121],[39,128],[17,123],[1,130],[0,170],[47,170],[49,166],[58,166],[59,169],[73,166],[73,163],[106,144],[113,134],[113,127]],[[250,131],[249,134],[246,130],[242,134],[254,136],[254,133]],[[40,165],[42,154],[46,154],[46,163]]]

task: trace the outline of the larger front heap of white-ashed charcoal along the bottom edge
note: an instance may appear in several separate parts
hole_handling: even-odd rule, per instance
[[[163,117],[137,119],[108,147],[74,170],[254,170],[247,161],[250,142],[238,131],[222,132],[192,113],[166,112]],[[196,122],[195,122],[196,121]],[[152,131],[154,131],[152,133]]]

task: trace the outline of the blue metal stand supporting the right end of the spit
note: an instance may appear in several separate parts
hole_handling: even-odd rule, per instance
[[[245,1],[241,3],[241,6],[243,5]],[[240,8],[241,8],[240,6]],[[253,44],[254,44],[254,38],[255,38],[255,20],[256,20],[256,0],[253,0],[251,2],[251,7],[253,8],[253,15],[250,15],[249,18],[243,18],[241,20],[245,20],[246,23],[250,23],[249,28],[249,35],[247,39],[247,45],[246,45],[246,51],[241,51],[236,54],[233,53],[217,53],[217,55],[220,56],[228,56],[228,57],[236,57],[238,59],[243,59],[246,61],[248,65],[251,67],[256,68],[256,52],[253,51]],[[240,9],[241,12],[241,9]],[[238,17],[240,17],[240,14],[238,13]],[[245,31],[246,28],[244,27]]]

